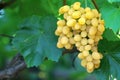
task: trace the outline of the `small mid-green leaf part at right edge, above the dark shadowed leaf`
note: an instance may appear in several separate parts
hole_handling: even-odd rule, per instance
[[[108,41],[119,41],[120,38],[112,31],[112,29],[107,28],[103,33],[103,38]]]

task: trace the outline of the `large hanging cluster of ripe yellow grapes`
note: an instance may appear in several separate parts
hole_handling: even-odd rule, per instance
[[[72,49],[75,46],[80,51],[78,58],[81,59],[81,65],[91,73],[99,68],[103,57],[98,52],[97,44],[105,30],[104,21],[96,9],[82,8],[80,5],[80,2],[75,2],[59,9],[64,19],[57,21],[57,47]]]

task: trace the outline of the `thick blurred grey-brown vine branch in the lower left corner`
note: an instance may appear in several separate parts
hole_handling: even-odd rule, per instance
[[[14,77],[21,70],[26,68],[26,64],[20,54],[17,54],[6,69],[0,71],[0,79],[9,79]]]

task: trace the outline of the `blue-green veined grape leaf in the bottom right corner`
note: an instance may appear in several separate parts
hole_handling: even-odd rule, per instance
[[[106,53],[100,65],[100,68],[93,73],[98,80],[120,79],[120,53]]]

